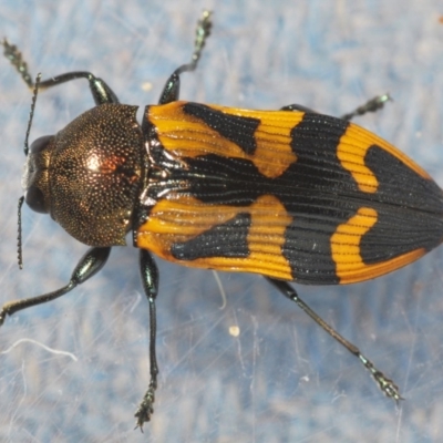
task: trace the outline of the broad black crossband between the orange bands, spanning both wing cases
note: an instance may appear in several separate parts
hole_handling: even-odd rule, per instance
[[[348,126],[343,120],[306,113],[291,131],[291,150],[297,162],[289,173],[302,177],[302,182],[298,202],[291,198],[284,202],[293,220],[286,230],[281,253],[290,259],[296,280],[315,285],[327,276],[328,282],[339,282],[330,238],[357,208],[348,202],[334,202],[337,195],[331,192],[334,188],[359,192],[337,157],[337,147]]]

